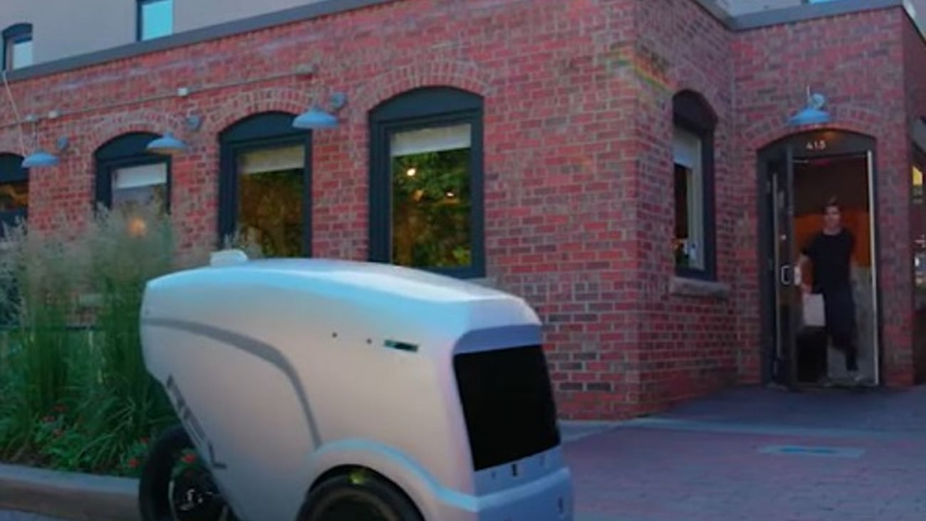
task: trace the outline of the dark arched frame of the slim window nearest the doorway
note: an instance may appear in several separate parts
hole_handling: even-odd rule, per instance
[[[693,133],[701,141],[701,222],[704,226],[705,265],[704,269],[675,266],[675,274],[685,279],[717,280],[717,212],[714,188],[714,134],[717,130],[717,116],[701,94],[681,91],[672,97],[672,124]]]

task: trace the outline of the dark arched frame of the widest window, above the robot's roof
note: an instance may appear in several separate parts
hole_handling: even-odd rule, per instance
[[[485,166],[482,96],[453,87],[421,87],[399,93],[369,112],[369,260],[392,264],[392,156],[394,132],[469,124],[470,265],[421,267],[460,279],[486,276]]]

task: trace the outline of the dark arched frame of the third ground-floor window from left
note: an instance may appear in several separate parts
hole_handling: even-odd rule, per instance
[[[312,241],[312,132],[293,128],[294,114],[258,112],[219,132],[219,248],[238,227],[238,162],[243,152],[277,146],[303,146],[303,255],[313,254]]]

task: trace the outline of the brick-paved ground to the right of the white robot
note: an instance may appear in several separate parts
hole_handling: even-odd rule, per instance
[[[737,389],[563,435],[576,521],[926,519],[926,387]]]

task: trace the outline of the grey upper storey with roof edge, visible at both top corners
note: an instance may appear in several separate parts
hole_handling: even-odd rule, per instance
[[[0,68],[17,81],[395,1],[3,0]],[[904,6],[926,35],[926,0],[690,1],[732,31]]]

